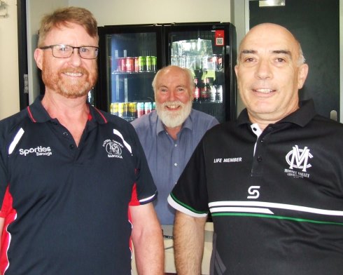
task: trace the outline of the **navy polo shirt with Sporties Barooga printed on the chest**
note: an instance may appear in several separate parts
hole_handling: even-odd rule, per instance
[[[6,275],[131,274],[129,205],[156,187],[130,123],[90,106],[76,147],[38,98],[0,121],[0,147],[0,198],[9,185],[17,211]]]

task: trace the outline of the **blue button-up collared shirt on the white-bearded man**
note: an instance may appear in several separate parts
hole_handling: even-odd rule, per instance
[[[214,116],[192,109],[174,140],[168,135],[156,111],[132,122],[158,187],[158,199],[154,203],[161,224],[174,223],[175,211],[168,205],[167,197],[204,133],[217,123]]]

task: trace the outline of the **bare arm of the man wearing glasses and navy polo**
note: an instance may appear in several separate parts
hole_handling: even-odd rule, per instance
[[[165,274],[165,246],[153,203],[130,206],[132,241],[139,275]]]

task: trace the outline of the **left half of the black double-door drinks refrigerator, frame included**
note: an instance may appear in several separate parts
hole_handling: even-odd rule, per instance
[[[132,121],[155,107],[151,83],[162,67],[158,25],[99,27],[99,81],[89,100]]]

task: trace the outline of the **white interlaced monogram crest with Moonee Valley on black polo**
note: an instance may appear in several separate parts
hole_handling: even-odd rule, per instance
[[[285,173],[293,177],[309,177],[307,169],[312,167],[309,163],[309,160],[312,158],[313,156],[306,146],[304,149],[300,149],[297,145],[293,146],[293,149],[286,154],[286,161],[289,168],[285,169]],[[295,169],[300,171],[296,171]]]

